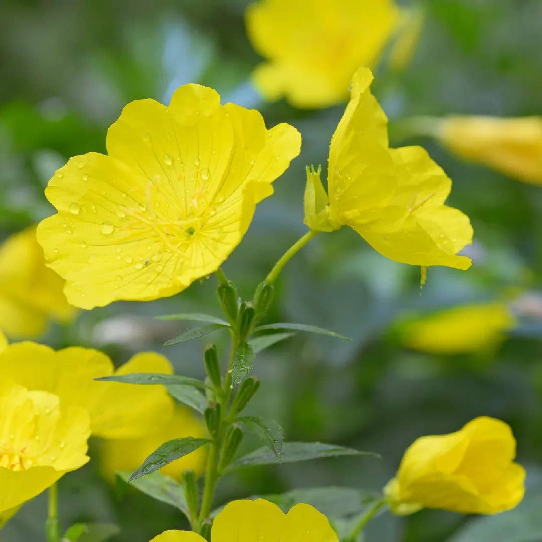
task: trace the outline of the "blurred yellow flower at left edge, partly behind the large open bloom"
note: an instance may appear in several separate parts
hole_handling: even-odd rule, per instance
[[[0,330],[12,337],[41,335],[48,320],[75,315],[62,289],[64,281],[48,269],[31,227],[0,246]]]

